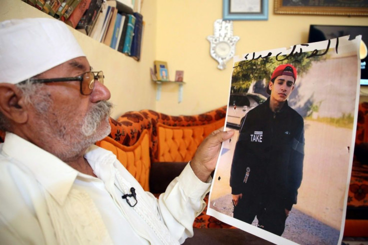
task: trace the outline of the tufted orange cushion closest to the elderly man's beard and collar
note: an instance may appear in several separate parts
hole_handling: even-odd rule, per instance
[[[140,138],[131,146],[122,145],[110,137],[96,142],[96,145],[112,151],[124,167],[135,177],[144,190],[149,191],[149,140],[144,129]]]

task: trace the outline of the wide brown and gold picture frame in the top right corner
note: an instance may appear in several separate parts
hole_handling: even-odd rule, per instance
[[[279,14],[312,14],[312,15],[347,15],[368,16],[368,0],[346,2],[338,0],[274,0],[274,13]]]

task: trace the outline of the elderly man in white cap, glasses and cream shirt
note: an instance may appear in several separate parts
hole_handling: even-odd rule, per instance
[[[157,200],[93,145],[110,130],[110,93],[64,23],[1,22],[0,63],[1,244],[177,244],[192,235],[232,132],[207,137]]]

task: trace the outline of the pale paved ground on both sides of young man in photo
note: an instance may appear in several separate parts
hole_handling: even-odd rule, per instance
[[[308,120],[304,121],[304,129],[303,179],[298,203],[286,220],[282,236],[299,244],[336,244],[345,205],[351,129]],[[211,190],[214,209],[229,216],[229,173],[237,134],[235,130],[233,140],[223,143],[225,150],[221,152]]]

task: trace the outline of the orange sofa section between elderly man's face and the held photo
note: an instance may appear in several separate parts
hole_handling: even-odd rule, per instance
[[[145,190],[158,193],[161,189],[152,191],[149,186],[152,164],[189,161],[199,143],[224,125],[225,115],[226,106],[190,116],[129,111],[116,120],[110,118],[110,134],[96,144],[114,152]],[[183,164],[172,164],[177,168],[174,173],[180,172]]]

